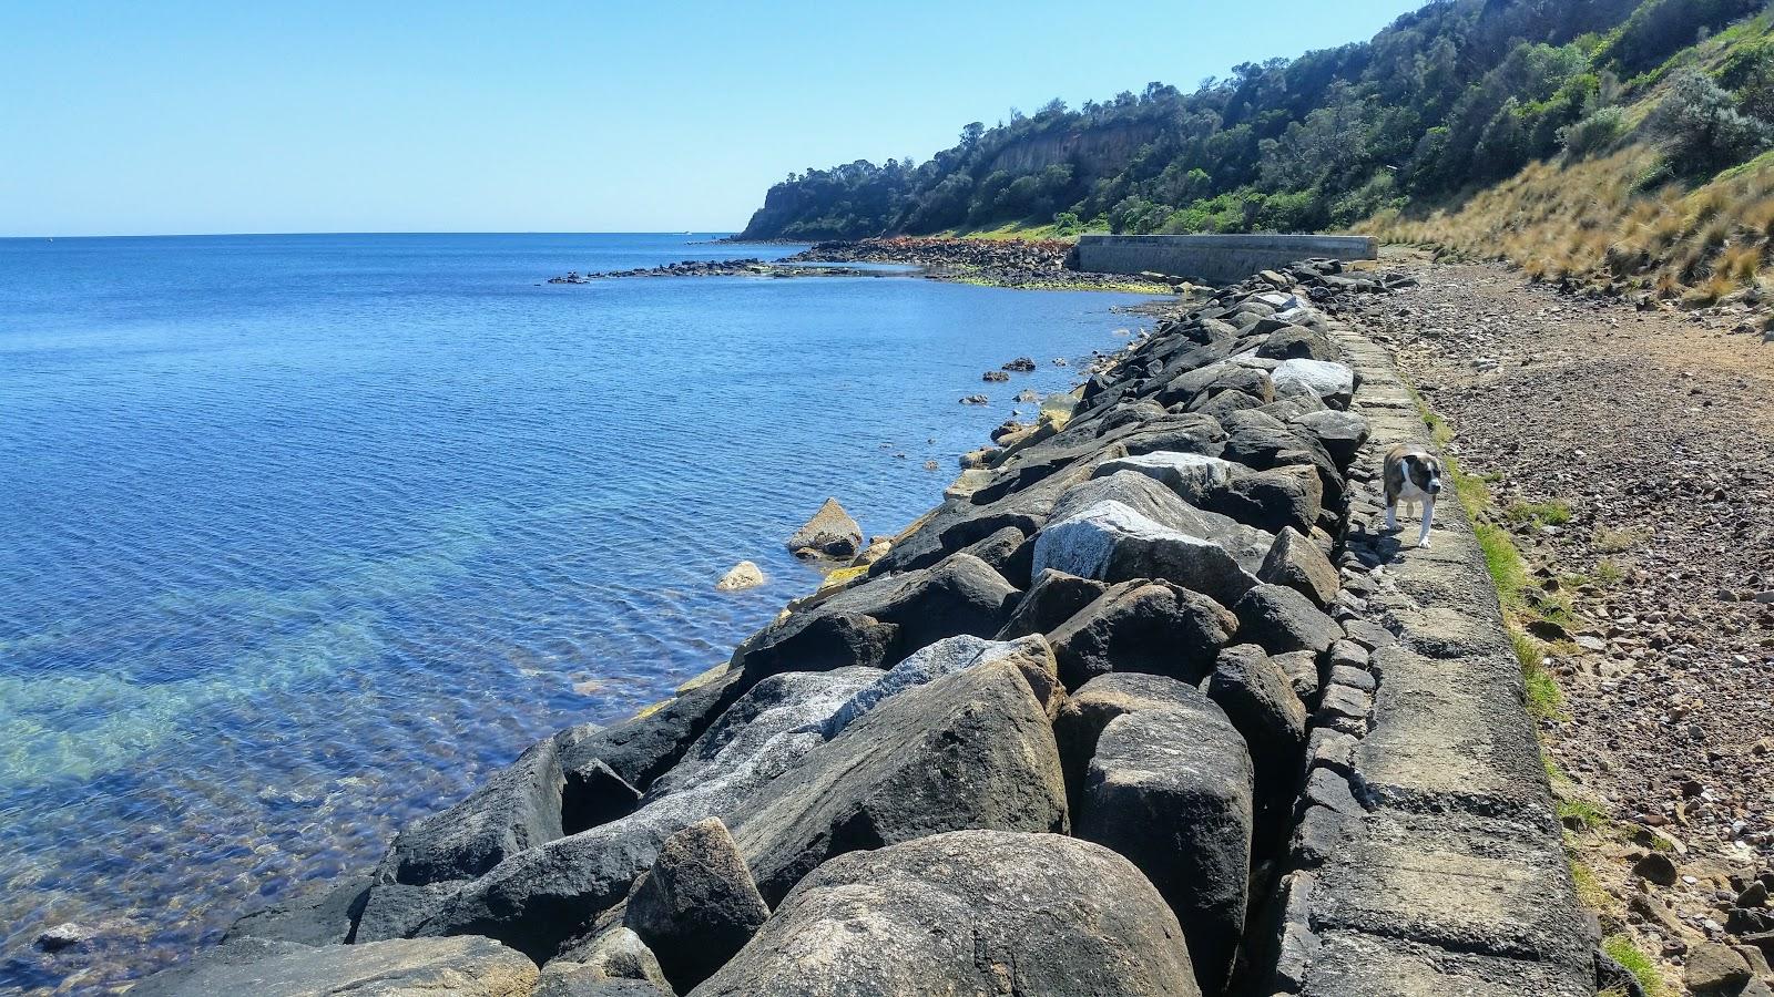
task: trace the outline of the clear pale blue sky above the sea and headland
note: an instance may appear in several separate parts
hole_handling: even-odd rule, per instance
[[[1417,0],[0,4],[0,234],[738,229],[789,170]]]

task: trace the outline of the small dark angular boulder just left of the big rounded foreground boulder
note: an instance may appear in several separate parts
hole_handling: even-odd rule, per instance
[[[722,967],[770,917],[740,848],[717,818],[665,839],[628,898],[624,924],[653,949],[672,990]]]

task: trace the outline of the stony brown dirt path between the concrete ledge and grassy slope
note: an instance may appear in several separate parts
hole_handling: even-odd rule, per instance
[[[1774,342],[1497,266],[1394,264],[1421,284],[1364,318],[1568,632],[1542,626],[1565,692],[1542,733],[1565,795],[1607,818],[1574,834],[1604,926],[1666,970],[1774,928],[1765,905],[1731,914],[1774,859]],[[1538,502],[1568,520],[1519,506]],[[1630,873],[1652,832],[1673,885]]]

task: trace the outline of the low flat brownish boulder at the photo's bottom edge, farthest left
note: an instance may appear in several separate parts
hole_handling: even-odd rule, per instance
[[[130,988],[137,997],[456,993],[529,997],[536,963],[490,938],[396,938],[273,949],[222,946]]]

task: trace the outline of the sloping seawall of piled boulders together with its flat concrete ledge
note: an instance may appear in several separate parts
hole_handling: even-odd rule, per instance
[[[1593,993],[1471,529],[1378,529],[1423,422],[1338,316],[1385,291],[1169,318],[726,669],[151,986],[429,986],[479,937],[463,992]]]

